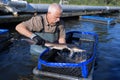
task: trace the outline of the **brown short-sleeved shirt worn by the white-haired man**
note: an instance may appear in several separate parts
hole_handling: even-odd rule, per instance
[[[30,20],[22,22],[22,24],[26,26],[28,30],[37,32],[42,31],[44,27],[44,32],[54,33],[58,27],[59,37],[65,38],[65,29],[63,22],[60,21],[58,24],[50,26],[47,22],[46,15],[42,15],[42,17],[34,16]]]

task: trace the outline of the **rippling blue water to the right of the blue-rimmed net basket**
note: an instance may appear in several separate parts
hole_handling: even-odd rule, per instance
[[[97,65],[93,80],[120,80],[120,24],[112,26],[91,22],[74,22],[74,24],[68,25],[80,31],[92,31],[99,35]],[[68,27],[67,29],[69,30]]]

